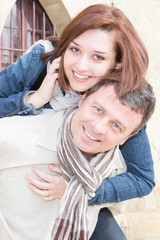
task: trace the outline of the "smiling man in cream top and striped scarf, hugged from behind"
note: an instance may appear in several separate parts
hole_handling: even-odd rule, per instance
[[[86,200],[94,196],[94,191],[103,179],[125,171],[125,164],[117,146],[148,121],[154,105],[155,97],[149,85],[143,91],[135,91],[118,98],[118,82],[104,80],[82,97],[78,109],[69,109],[64,119],[63,111],[53,114],[52,110],[36,117],[1,119],[2,239],[51,239],[51,234],[52,239],[56,239],[57,235],[57,239],[65,239],[59,236],[62,236],[62,230],[68,233],[68,229],[63,225],[64,219],[67,220],[67,227],[72,220],[68,213],[76,220],[74,224],[71,222],[69,236],[74,232],[77,236],[79,231],[80,234],[83,232],[80,239],[85,239],[82,236],[88,236],[87,222],[84,221],[80,229],[77,222],[79,215],[82,215],[82,218],[85,216],[84,220],[87,219],[87,211],[89,220],[94,220],[89,221],[90,236],[98,210],[103,206],[87,207],[86,211],[78,214],[81,212],[81,203],[83,201],[83,206],[86,207]],[[59,135],[62,137],[57,138],[60,122],[63,123]],[[61,202],[58,199],[45,202],[27,189],[24,176],[31,175],[30,169],[35,166],[48,172],[47,165],[57,163],[57,156],[67,189]],[[72,183],[77,186],[76,189]],[[77,200],[79,196],[82,198]],[[63,209],[63,206],[68,207]],[[74,213],[78,213],[73,214],[72,208]],[[57,216],[60,218],[56,219]]]

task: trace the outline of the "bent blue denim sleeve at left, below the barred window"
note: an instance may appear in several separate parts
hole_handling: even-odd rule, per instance
[[[24,104],[24,97],[45,66],[40,59],[43,52],[38,44],[0,72],[0,118],[32,114],[33,106]]]

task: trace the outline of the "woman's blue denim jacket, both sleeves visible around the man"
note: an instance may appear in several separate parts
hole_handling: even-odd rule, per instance
[[[45,46],[34,45],[16,64],[0,72],[0,117],[38,114],[25,98],[45,67],[41,54]],[[89,204],[121,202],[149,194],[154,183],[154,169],[146,127],[128,139],[122,146],[127,172],[106,179],[97,189]]]

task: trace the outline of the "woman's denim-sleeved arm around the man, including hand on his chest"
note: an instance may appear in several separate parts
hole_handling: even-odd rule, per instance
[[[146,127],[121,147],[127,172],[105,179],[89,204],[121,202],[131,198],[143,197],[152,191],[155,185],[153,160],[145,129]],[[52,166],[50,169],[61,173],[58,167]],[[63,196],[66,184],[61,174],[53,177],[37,169],[34,170],[34,173],[43,180],[41,182],[33,177],[26,177],[30,182],[29,187],[34,193],[46,201]]]

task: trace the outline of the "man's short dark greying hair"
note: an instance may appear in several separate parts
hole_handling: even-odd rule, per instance
[[[152,86],[145,81],[144,84],[136,90],[119,95],[119,81],[104,79],[87,91],[86,98],[98,91],[101,87],[107,87],[109,85],[114,86],[117,97],[119,97],[119,101],[123,105],[129,106],[136,113],[141,113],[143,115],[140,125],[134,130],[134,132],[132,132],[132,134],[137,132],[148,122],[155,109],[156,98]]]

